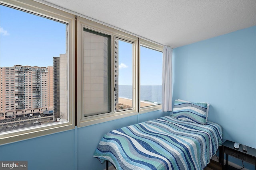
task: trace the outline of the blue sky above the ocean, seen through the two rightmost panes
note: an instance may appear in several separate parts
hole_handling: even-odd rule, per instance
[[[119,85],[132,85],[132,44],[118,41]],[[162,52],[140,47],[140,84],[162,85]]]

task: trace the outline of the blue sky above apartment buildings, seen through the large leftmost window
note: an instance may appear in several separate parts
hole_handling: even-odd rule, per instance
[[[66,24],[0,6],[0,66],[52,66],[66,53]]]

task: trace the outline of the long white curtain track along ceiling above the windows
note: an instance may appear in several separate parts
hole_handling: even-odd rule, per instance
[[[152,40],[150,40],[150,39],[147,39],[147,38],[145,38],[145,37],[136,35],[136,34],[134,34],[134,33],[131,33],[131,32],[129,32],[129,31],[126,31],[126,30],[124,30],[124,29],[121,29],[121,28],[115,27],[115,26],[113,26],[113,25],[110,25],[110,24],[108,24],[108,23],[104,23],[104,22],[102,22],[102,21],[95,20],[95,19],[93,19],[93,18],[90,18],[90,17],[88,17],[88,16],[79,14],[79,13],[74,12],[74,11],[71,11],[71,10],[68,10],[68,9],[66,9],[66,8],[63,8],[63,7],[60,7],[60,6],[51,4],[50,2],[46,2],[46,1],[44,1],[44,0],[33,0],[33,1],[36,1],[36,2],[39,2],[39,3],[41,3],[41,4],[44,4],[44,5],[47,5],[47,6],[51,6],[51,7],[53,7],[53,8],[56,8],[56,9],[58,9],[58,10],[62,10],[62,11],[64,11],[64,12],[68,12],[68,13],[70,13],[70,14],[73,14],[73,15],[76,15],[76,16],[79,16],[79,17],[82,17],[82,18],[85,18],[85,19],[88,19],[88,20],[91,20],[91,21],[100,23],[100,24],[102,24],[102,25],[106,25],[106,26],[108,26],[108,27],[117,29],[118,31],[122,31],[122,32],[124,32],[124,33],[128,33],[128,34],[130,34],[130,35],[136,36],[136,37],[141,38],[141,39],[145,39],[145,40],[147,40],[147,41],[150,41],[151,43],[155,43],[155,44],[161,45],[161,46],[163,46],[163,47],[165,46],[165,45],[162,45],[162,44],[157,43],[157,42],[155,42],[155,41],[152,41]]]

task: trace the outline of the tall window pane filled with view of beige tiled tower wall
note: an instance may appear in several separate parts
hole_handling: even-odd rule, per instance
[[[111,36],[84,28],[84,117],[111,112]]]

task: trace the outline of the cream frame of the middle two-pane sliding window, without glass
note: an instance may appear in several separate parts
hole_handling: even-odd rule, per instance
[[[88,117],[83,117],[83,108],[84,108],[84,96],[83,96],[83,30],[84,28],[90,29],[92,31],[100,32],[106,35],[111,36],[111,112],[104,113],[99,115],[92,115]],[[106,121],[111,121],[115,119],[120,119],[124,117],[129,117],[132,115],[138,114],[138,37],[130,35],[128,33],[124,33],[117,29],[108,27],[106,25],[102,25],[95,21],[90,21],[88,19],[82,18],[78,16],[77,20],[77,43],[78,43],[78,50],[77,50],[77,126],[83,127],[88,125],[93,125],[97,123],[102,123]],[[133,106],[132,109],[127,110],[114,110],[114,39],[123,39],[125,41],[130,41],[133,43]],[[80,63],[80,64],[79,64]]]

